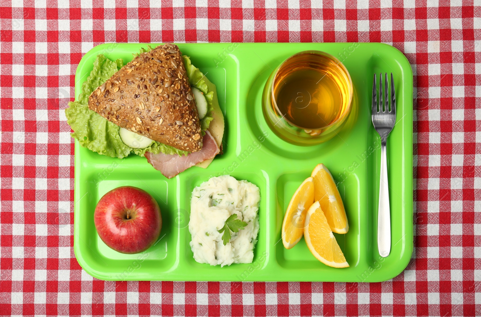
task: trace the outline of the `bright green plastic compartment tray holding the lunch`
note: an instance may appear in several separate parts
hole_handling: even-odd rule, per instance
[[[76,71],[76,96],[97,54],[127,62],[146,45],[110,43],[91,49]],[[373,282],[400,274],[413,251],[413,74],[405,56],[379,43],[178,46],[217,86],[226,120],[224,154],[207,169],[192,167],[167,180],[145,158],[110,158],[76,142],[74,250],[82,268],[101,280]],[[261,95],[267,77],[280,62],[309,49],[328,52],[344,63],[352,76],[354,108],[338,136],[303,147],[291,145],[269,130]],[[387,150],[392,246],[386,258],[379,256],[377,248],[380,139],[372,126],[370,103],[373,74],[380,72],[394,74],[397,99],[397,120]],[[290,250],[281,242],[280,228],[291,196],[318,163],[324,163],[339,183],[349,232],[335,235],[349,268],[330,268],[317,261],[304,240]],[[190,193],[210,177],[223,174],[254,183],[261,191],[260,230],[252,264],[224,268],[199,264],[190,250]],[[162,211],[159,240],[138,255],[107,247],[93,223],[101,196],[123,185],[146,190]]]

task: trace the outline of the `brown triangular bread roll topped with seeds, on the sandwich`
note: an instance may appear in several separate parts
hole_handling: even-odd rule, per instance
[[[177,45],[141,53],[89,97],[89,109],[177,149],[202,149],[199,114]]]

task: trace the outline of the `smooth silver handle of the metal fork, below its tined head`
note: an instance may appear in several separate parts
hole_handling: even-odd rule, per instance
[[[384,140],[382,140],[384,139]],[[381,171],[378,209],[378,250],[382,257],[391,252],[391,215],[389,209],[388,168],[386,161],[386,138],[381,137]]]

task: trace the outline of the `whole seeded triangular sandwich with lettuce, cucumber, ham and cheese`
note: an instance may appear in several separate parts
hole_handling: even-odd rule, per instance
[[[222,151],[215,85],[173,44],[141,49],[125,65],[98,55],[65,116],[81,146],[114,158],[145,157],[167,178],[206,168]]]

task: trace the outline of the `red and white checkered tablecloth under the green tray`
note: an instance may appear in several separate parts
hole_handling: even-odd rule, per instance
[[[480,316],[481,2],[15,0],[0,4],[0,314]],[[414,72],[415,251],[380,283],[125,282],[73,251],[64,109],[104,42],[384,42]]]

